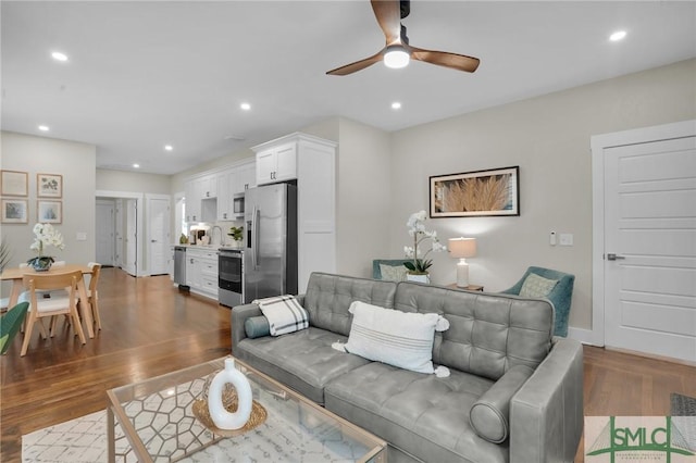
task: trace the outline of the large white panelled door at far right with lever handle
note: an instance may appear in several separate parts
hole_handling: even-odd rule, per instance
[[[696,136],[604,162],[605,343],[696,362]]]

